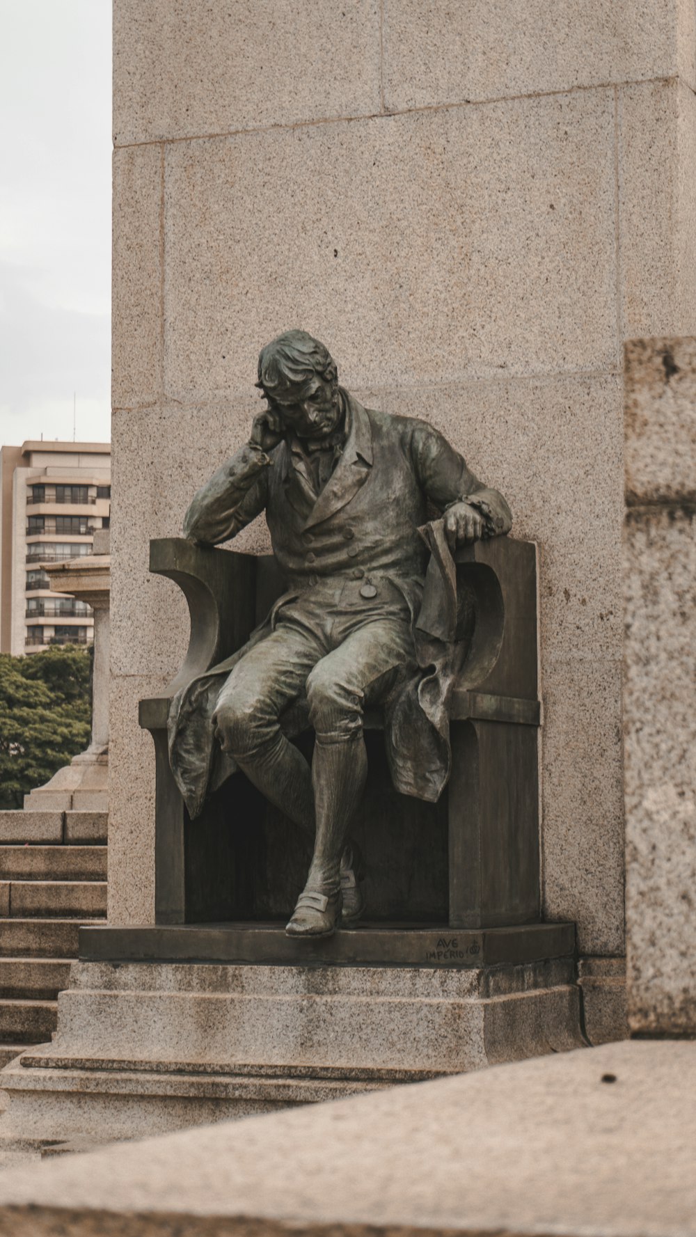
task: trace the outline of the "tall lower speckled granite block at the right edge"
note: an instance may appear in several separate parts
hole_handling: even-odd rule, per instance
[[[696,382],[695,382],[696,398]],[[629,512],[626,548],[629,1017],[696,1033],[695,512]]]

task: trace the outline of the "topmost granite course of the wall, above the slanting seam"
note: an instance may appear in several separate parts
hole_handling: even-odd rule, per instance
[[[676,74],[696,85],[690,0],[560,0],[553,21],[548,0],[267,0],[262,35],[252,0],[120,0],[116,145]]]

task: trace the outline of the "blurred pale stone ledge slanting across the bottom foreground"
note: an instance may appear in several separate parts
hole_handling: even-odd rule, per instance
[[[12,1237],[696,1233],[696,1043],[623,1042],[0,1174]]]

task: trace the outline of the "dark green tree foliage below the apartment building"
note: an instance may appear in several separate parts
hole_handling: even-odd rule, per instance
[[[90,672],[91,653],[69,644],[0,653],[0,808],[21,808],[88,746]]]

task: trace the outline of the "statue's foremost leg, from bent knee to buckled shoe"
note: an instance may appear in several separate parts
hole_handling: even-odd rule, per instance
[[[341,855],[367,777],[363,706],[366,699],[376,701],[391,690],[396,675],[412,661],[409,623],[375,618],[352,631],[309,674],[307,696],[316,735],[312,762],[316,836],[288,935],[329,935],[335,928]]]

